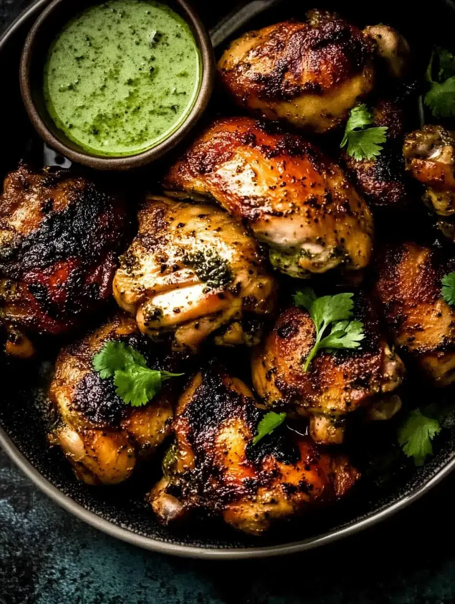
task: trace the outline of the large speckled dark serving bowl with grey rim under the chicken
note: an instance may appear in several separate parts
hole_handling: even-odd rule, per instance
[[[19,92],[19,59],[28,30],[49,0],[38,0],[22,14],[0,40],[0,71],[3,90],[3,115],[15,124],[14,136],[2,141],[1,174],[15,167],[24,149],[33,140],[33,128],[21,102]],[[254,2],[253,10],[237,11],[212,31],[213,39],[224,39],[250,14],[264,5],[278,5],[268,13],[256,14],[249,27],[279,21],[292,13],[293,2]],[[299,6],[300,14],[311,6]],[[337,3],[321,2],[324,8]],[[435,0],[431,11],[415,10],[413,2],[338,2],[338,10],[359,22],[390,22],[395,25],[425,57],[434,41],[444,45],[452,38],[455,8],[448,0]],[[221,8],[204,6],[207,27],[213,27],[223,15]],[[218,10],[218,13],[217,13]],[[299,16],[296,14],[296,16]],[[37,141],[35,140],[34,144]],[[38,141],[38,144],[39,141]],[[53,358],[53,351],[46,354]],[[396,446],[396,425],[383,424],[373,434],[360,437],[355,463],[360,464],[363,480],[352,495],[330,510],[314,513],[288,525],[282,525],[264,539],[248,538],[216,522],[204,522],[179,531],[157,524],[143,501],[143,493],[156,478],[158,469],[147,469],[137,480],[118,487],[92,488],[78,483],[69,464],[57,449],[46,441],[44,415],[36,403],[36,386],[42,381],[39,362],[18,363],[0,359],[2,400],[0,404],[0,443],[19,467],[54,501],[89,524],[124,541],[150,550],[179,556],[239,558],[262,557],[307,550],[350,535],[390,516],[415,501],[455,467],[455,429],[446,428],[435,443],[434,456],[424,467],[416,468],[400,455]],[[5,377],[7,376],[7,377]],[[418,382],[408,380],[407,399],[412,406],[433,402],[438,396]],[[453,393],[453,391],[451,391]],[[449,392],[449,396],[451,396]],[[362,440],[363,439],[363,440]]]

